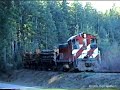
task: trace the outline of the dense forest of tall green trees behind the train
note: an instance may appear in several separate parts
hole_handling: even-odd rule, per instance
[[[119,61],[120,7],[115,4],[103,13],[79,1],[0,0],[0,70],[21,68],[25,51],[53,49],[80,32],[97,36],[102,59]]]

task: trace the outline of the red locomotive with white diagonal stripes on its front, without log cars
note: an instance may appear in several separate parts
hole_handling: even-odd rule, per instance
[[[79,71],[96,71],[101,63],[97,38],[85,33],[70,37],[67,43],[59,45],[56,63]]]

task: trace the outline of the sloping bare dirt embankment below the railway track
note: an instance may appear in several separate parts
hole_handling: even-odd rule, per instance
[[[42,88],[116,88],[120,87],[120,73],[52,72],[16,70],[1,75],[0,82]]]

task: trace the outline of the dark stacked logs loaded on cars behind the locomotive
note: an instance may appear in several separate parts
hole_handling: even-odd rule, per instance
[[[26,69],[48,70],[51,69],[56,61],[54,50],[36,50],[35,53],[26,52],[23,65]]]

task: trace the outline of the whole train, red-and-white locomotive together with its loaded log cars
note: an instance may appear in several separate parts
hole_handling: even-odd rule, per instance
[[[97,71],[101,55],[97,38],[79,33],[54,50],[37,49],[34,54],[26,53],[23,63],[25,68],[37,70]]]

